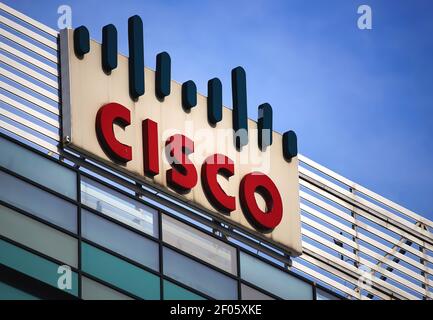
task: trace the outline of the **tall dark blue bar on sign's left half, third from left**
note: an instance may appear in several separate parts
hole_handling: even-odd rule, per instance
[[[143,21],[137,15],[128,19],[129,92],[133,99],[144,94]]]

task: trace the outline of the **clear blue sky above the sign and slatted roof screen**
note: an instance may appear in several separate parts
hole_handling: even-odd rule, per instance
[[[274,129],[293,129],[302,154],[433,219],[433,2],[429,0],[3,0],[53,28],[59,5],[101,39],[113,23],[127,54],[127,19],[144,22],[145,63],[167,51],[172,77],[206,94],[247,72],[249,116],[269,102]],[[373,29],[359,30],[368,4]]]

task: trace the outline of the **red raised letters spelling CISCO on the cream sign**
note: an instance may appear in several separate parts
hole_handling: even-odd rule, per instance
[[[132,160],[132,148],[118,141],[113,125],[123,129],[131,124],[130,111],[118,103],[103,105],[96,116],[96,134],[104,152],[115,162]],[[158,124],[150,119],[142,122],[143,167],[149,176],[159,174]],[[179,193],[186,193],[197,184],[197,170],[188,155],[194,152],[194,141],[182,134],[170,136],[166,156],[171,169],[166,172],[167,185]],[[201,182],[209,202],[220,212],[230,214],[236,209],[236,198],[228,195],[218,183],[217,176],[229,179],[235,173],[234,162],[223,154],[206,158],[201,167]],[[262,210],[255,198],[260,194],[266,203]],[[283,217],[283,203],[274,182],[266,174],[246,174],[239,186],[239,200],[248,221],[261,232],[270,232]]]

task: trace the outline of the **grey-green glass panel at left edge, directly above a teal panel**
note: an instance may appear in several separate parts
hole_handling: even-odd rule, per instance
[[[2,205],[0,205],[0,234],[77,267],[77,239]]]

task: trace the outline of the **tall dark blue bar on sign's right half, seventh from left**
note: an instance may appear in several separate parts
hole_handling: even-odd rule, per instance
[[[233,129],[236,148],[248,144],[247,80],[245,70],[237,67],[232,70]]]

